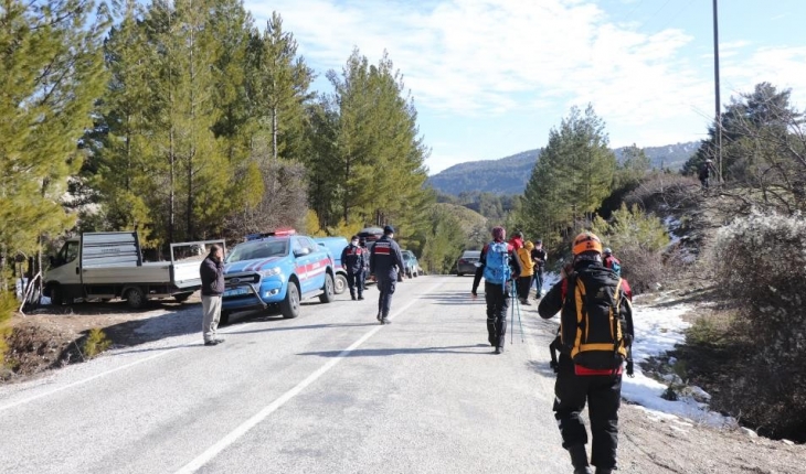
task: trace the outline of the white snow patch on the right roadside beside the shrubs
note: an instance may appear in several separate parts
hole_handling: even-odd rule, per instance
[[[638,403],[649,413],[650,419],[675,420],[682,417],[694,422],[708,423],[715,427],[735,424],[732,418],[708,410],[708,405],[698,402],[690,396],[679,396],[677,401],[669,401],[660,396],[667,385],[644,375],[640,362],[651,356],[662,355],[675,348],[675,344],[686,341],[683,334],[689,323],[682,315],[690,311],[690,306],[677,305],[671,308],[649,308],[635,305],[633,323],[635,324],[636,340],[633,342],[633,359],[635,360],[635,377],[624,377],[622,397]],[[692,387],[692,392],[700,399],[710,396],[699,387]]]

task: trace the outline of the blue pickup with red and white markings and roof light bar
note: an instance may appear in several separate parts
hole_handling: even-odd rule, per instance
[[[333,300],[332,256],[294,229],[248,235],[230,250],[224,263],[222,324],[236,311],[278,308],[283,317],[297,317],[306,298]]]

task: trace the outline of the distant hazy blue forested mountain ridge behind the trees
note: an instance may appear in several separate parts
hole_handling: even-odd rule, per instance
[[[644,149],[655,168],[678,170],[700,146],[698,141],[647,147]],[[614,150],[621,160],[624,148]],[[443,193],[458,195],[479,191],[494,194],[521,194],[532,174],[540,149],[528,150],[498,160],[469,161],[455,164],[428,177],[428,183]]]

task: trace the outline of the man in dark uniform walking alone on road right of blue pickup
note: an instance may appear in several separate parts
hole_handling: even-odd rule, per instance
[[[370,250],[370,273],[375,276],[378,289],[378,321],[390,324],[389,311],[392,309],[392,294],[397,283],[397,273],[403,271],[403,255],[394,239],[394,228],[385,226],[383,237]]]

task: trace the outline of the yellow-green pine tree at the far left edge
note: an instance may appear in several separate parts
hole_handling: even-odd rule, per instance
[[[0,7],[0,247],[40,249],[41,237],[73,225],[62,206],[81,168],[79,139],[104,85],[104,9],[92,1]],[[92,18],[92,21],[91,21]]]

